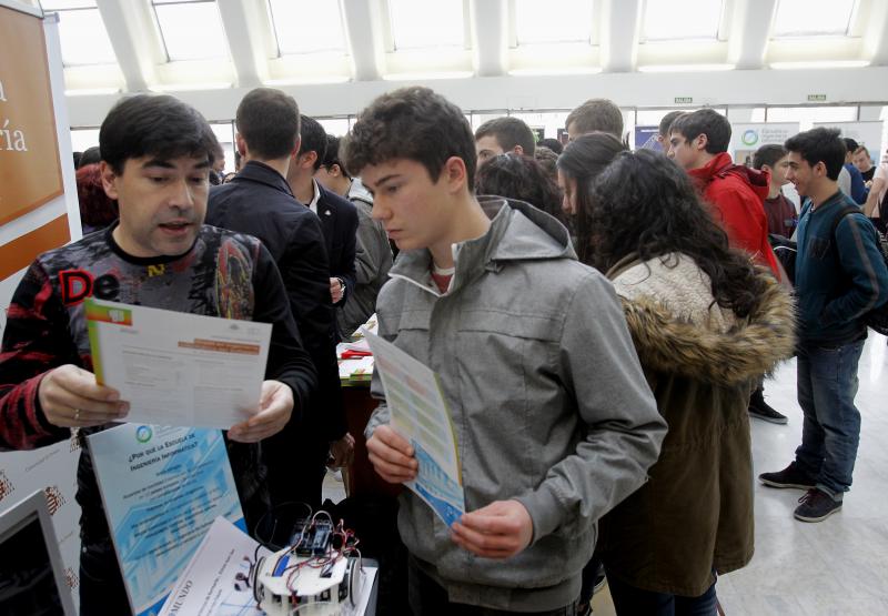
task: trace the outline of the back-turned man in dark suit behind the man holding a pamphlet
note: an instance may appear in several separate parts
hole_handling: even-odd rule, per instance
[[[300,114],[292,97],[271,88],[251,90],[235,115],[238,151],[245,161],[234,179],[210,191],[206,221],[262,240],[281,270],[290,309],[317,370],[319,391],[302,417],[263,444],[273,505],[321,504],[324,463],[351,455],[340,388],[330,265],[321,223],[302,208],[285,180],[300,145]]]

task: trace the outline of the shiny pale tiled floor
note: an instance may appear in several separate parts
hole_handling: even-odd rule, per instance
[[[798,489],[756,485],[756,555],[718,580],[728,616],[888,615],[888,347],[870,332],[858,371],[862,415],[854,487],[841,512],[819,524],[793,518]],[[787,362],[765,383],[768,403],[789,424],[753,421],[755,473],[779,471],[801,438],[796,365]],[[324,489],[342,497],[329,475]],[[593,602],[595,616],[614,614],[607,590]]]

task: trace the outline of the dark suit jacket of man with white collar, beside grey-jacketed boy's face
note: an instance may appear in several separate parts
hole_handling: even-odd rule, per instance
[[[315,182],[321,196],[317,199],[317,218],[324,230],[326,255],[330,260],[330,275],[345,281],[345,294],[336,306],[345,303],[355,285],[355,235],[357,233],[357,210],[347,199],[329,191]]]

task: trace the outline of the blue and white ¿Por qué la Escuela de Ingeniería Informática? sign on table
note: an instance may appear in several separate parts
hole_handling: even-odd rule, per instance
[[[222,432],[130,423],[89,446],[132,613],[157,614],[216,517],[245,528]]]

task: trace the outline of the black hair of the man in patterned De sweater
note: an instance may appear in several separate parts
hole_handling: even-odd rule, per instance
[[[129,159],[206,156],[213,163],[216,139],[193,107],[169,95],[137,94],[118,102],[99,130],[99,150],[114,173]],[[81,164],[82,164],[81,158]]]

